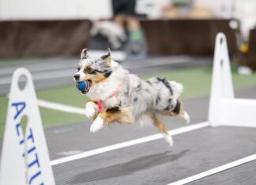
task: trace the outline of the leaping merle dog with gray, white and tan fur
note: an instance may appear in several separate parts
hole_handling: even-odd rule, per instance
[[[161,118],[179,116],[190,122],[179,99],[181,83],[156,77],[141,80],[113,61],[109,49],[102,57],[89,57],[88,49],[83,49],[73,78],[90,84],[89,90],[82,93],[90,99],[85,105],[85,116],[93,118],[92,133],[114,122],[153,124],[172,146],[173,140]]]

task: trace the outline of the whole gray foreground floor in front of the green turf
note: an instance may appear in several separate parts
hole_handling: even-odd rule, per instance
[[[236,96],[256,98],[256,87],[237,91]],[[208,101],[205,97],[184,103],[192,124],[206,120]],[[169,129],[186,126],[179,118],[166,123]],[[158,133],[156,128],[118,124],[93,135],[88,129],[85,122],[47,130],[51,159]],[[202,128],[175,135],[172,149],[158,139],[55,165],[53,170],[57,184],[167,184],[255,154],[255,135],[254,128]],[[191,184],[255,184],[255,170],[256,163],[250,162]]]

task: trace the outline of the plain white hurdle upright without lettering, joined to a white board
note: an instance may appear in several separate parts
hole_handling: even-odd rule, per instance
[[[209,123],[215,127],[230,125],[256,127],[256,100],[235,98],[227,40],[216,35],[213,79],[209,100]]]

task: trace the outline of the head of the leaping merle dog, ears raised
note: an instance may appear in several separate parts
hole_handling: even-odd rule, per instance
[[[91,85],[100,83],[111,76],[111,52],[102,57],[88,57],[88,49],[81,51],[81,60],[73,79],[77,82],[88,81]]]

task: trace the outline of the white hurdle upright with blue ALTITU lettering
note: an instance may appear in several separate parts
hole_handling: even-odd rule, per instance
[[[27,79],[23,90],[18,87],[21,76]],[[21,119],[24,116],[27,124],[22,131]],[[18,68],[13,73],[2,145],[0,184],[55,184],[32,76],[25,68]]]

